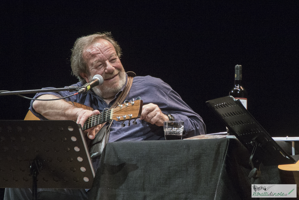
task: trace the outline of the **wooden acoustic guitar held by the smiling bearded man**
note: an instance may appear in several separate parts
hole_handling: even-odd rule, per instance
[[[92,108],[79,103],[75,103],[75,104],[73,102],[68,102],[68,103],[73,104],[76,107],[84,108],[87,110],[93,110]],[[141,99],[138,100],[133,99],[131,102],[128,102],[128,100],[126,100],[123,104],[118,105],[117,108],[112,108],[112,109],[106,108],[103,110],[102,113],[98,115],[92,115],[89,118],[87,118],[86,122],[83,124],[82,130],[89,129],[91,127],[94,127],[98,124],[102,124],[112,119],[114,119],[115,121],[123,121],[123,122],[129,121],[128,126],[130,126],[131,120],[134,120],[133,124],[137,124],[136,119],[140,118],[141,116],[142,106],[143,106],[143,101]],[[28,111],[24,120],[39,120],[39,118],[35,117],[31,111]],[[125,124],[122,123],[121,126],[124,127]]]

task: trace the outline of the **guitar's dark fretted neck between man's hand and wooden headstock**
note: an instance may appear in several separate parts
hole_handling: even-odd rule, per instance
[[[112,111],[113,111],[113,109],[110,109],[110,110],[104,111],[104,115],[103,115],[103,112],[102,112],[98,115],[90,116],[89,118],[87,118],[86,122],[83,124],[82,130],[89,129],[89,128],[94,127],[98,124],[102,124],[106,121],[111,120],[112,115],[113,115]]]

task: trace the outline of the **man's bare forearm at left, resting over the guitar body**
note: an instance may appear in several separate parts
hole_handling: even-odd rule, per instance
[[[58,97],[51,94],[44,94],[38,99],[57,99]],[[34,110],[49,120],[73,120],[76,121],[78,112],[84,110],[77,108],[65,100],[55,101],[38,101],[35,100],[32,104]]]

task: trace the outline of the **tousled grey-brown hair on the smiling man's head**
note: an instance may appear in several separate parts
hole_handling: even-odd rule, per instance
[[[72,49],[71,68],[72,68],[72,74],[74,76],[77,76],[77,78],[81,82],[83,82],[83,84],[86,83],[86,81],[82,78],[80,73],[89,74],[88,68],[86,66],[86,61],[83,58],[83,52],[88,46],[97,42],[97,40],[99,40],[99,39],[104,39],[104,40],[109,41],[113,45],[118,58],[120,58],[120,56],[121,56],[120,46],[113,39],[110,32],[95,33],[95,34],[91,34],[91,35],[87,35],[87,36],[78,38],[75,41],[74,47]]]

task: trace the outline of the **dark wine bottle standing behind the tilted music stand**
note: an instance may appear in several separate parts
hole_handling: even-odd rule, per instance
[[[242,65],[235,66],[235,86],[230,91],[229,95],[235,99],[239,99],[247,109],[247,91],[242,86]]]

